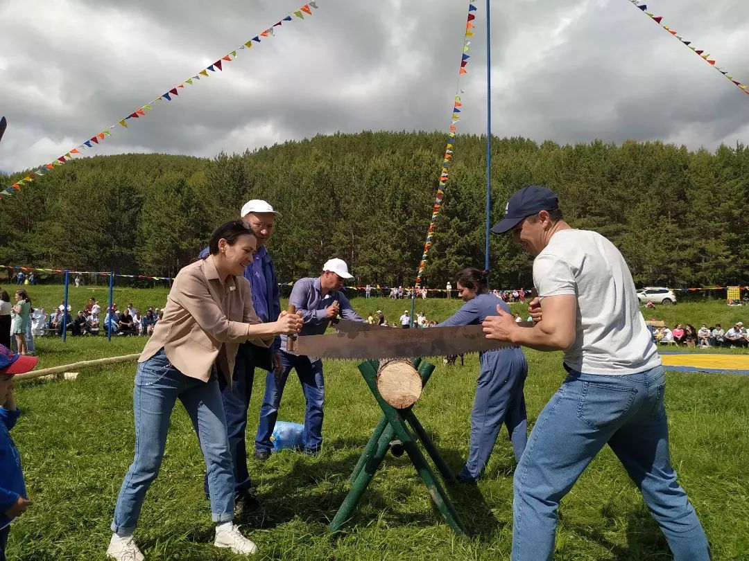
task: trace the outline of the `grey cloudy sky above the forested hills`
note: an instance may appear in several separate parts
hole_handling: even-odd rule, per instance
[[[296,10],[300,0],[0,0],[0,170],[36,168]],[[566,143],[749,142],[749,96],[628,0],[492,2],[492,132]],[[749,1],[649,10],[749,82]],[[467,1],[318,0],[93,154],[214,156],[336,131],[449,126]],[[486,128],[485,0],[460,132]]]

